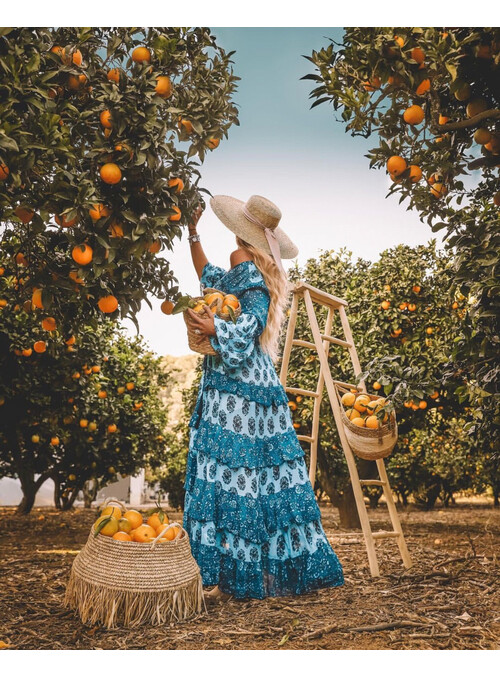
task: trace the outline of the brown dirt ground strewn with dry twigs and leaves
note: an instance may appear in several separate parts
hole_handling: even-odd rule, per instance
[[[345,585],[300,597],[211,603],[196,620],[140,630],[82,625],[62,607],[76,552],[95,512],[0,509],[0,641],[10,649],[498,649],[500,511],[483,502],[400,510],[414,566],[380,540],[382,576],[369,575],[364,543],[323,525]],[[387,529],[383,508],[370,512]],[[43,518],[42,518],[43,516]],[[172,514],[171,518],[180,518]],[[497,555],[496,555],[497,554]]]

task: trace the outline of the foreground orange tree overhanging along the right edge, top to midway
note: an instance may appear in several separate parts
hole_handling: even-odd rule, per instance
[[[306,57],[313,106],[331,103],[353,136],[378,137],[367,157],[454,253],[453,280],[472,302],[453,344],[467,427],[493,446],[500,422],[500,29],[347,28]]]

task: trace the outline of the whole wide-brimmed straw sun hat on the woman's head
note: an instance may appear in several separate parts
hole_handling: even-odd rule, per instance
[[[279,245],[282,259],[293,259],[299,253],[298,247],[278,226],[281,219],[279,207],[267,198],[252,195],[243,202],[229,195],[214,195],[210,198],[210,205],[224,226],[271,256],[274,256],[271,242]]]

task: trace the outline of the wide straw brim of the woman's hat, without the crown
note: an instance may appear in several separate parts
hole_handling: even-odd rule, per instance
[[[229,195],[214,195],[210,198],[210,206],[226,228],[251,245],[272,255],[264,230],[246,218],[243,213],[244,205],[243,200],[232,198]],[[299,253],[298,247],[279,226],[274,229],[274,234],[280,246],[281,258],[293,259],[296,257]]]

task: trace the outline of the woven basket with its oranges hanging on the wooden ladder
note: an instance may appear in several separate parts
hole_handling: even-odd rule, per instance
[[[336,386],[344,433],[352,451],[361,459],[388,457],[398,441],[398,426],[392,405],[368,393]]]

